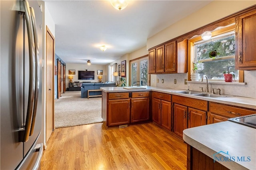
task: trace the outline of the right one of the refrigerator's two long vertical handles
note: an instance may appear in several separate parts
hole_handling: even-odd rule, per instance
[[[30,129],[30,136],[33,135],[35,122],[36,122],[36,112],[37,112],[37,103],[38,103],[38,94],[39,94],[39,80],[40,80],[40,74],[39,74],[39,44],[38,44],[38,36],[37,36],[37,30],[36,30],[36,17],[35,12],[32,7],[30,7],[30,13],[31,13],[31,20],[32,20],[32,27],[33,27],[33,33],[34,33],[34,49],[35,49],[35,61],[36,61],[36,69],[35,69],[35,92],[34,92],[34,108],[33,108],[33,115],[32,115],[32,123],[31,123],[31,129]]]

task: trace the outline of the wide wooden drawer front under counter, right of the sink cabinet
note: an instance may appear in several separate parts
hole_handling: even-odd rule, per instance
[[[256,114],[256,111],[242,109],[242,108],[233,107],[233,106],[226,106],[223,104],[217,104],[213,102],[210,102],[210,112],[224,115],[230,118]]]

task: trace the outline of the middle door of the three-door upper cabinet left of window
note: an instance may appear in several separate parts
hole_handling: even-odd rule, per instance
[[[164,72],[164,45],[156,48],[156,72]]]

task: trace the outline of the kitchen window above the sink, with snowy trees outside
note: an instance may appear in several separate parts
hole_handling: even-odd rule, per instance
[[[210,81],[224,81],[223,72],[233,71],[235,80],[239,80],[239,70],[235,70],[235,30],[234,25],[223,30],[213,31],[209,40],[201,37],[190,39],[190,55],[193,66],[198,66],[200,77],[208,76]],[[210,51],[217,51],[212,57]],[[193,69],[193,67],[192,67]]]

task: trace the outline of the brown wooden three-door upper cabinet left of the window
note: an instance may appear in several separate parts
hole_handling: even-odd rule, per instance
[[[187,72],[188,41],[170,41],[148,51],[148,73]]]

